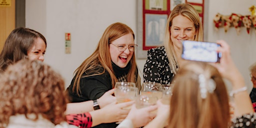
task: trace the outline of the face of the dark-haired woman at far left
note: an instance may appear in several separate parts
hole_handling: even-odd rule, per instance
[[[32,47],[27,51],[27,56],[31,60],[37,59],[43,61],[45,49],[45,42],[41,38],[37,37],[35,39],[34,45],[32,45]]]

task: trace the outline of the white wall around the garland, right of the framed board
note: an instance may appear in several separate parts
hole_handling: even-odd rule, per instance
[[[241,27],[240,34],[237,35],[234,27],[230,27],[227,32],[224,32],[222,27],[217,32],[214,30],[212,18],[217,12],[223,15],[230,15],[231,13],[249,15],[250,11],[248,8],[256,5],[256,0],[209,0],[208,2],[208,41],[224,39],[228,42],[231,56],[245,79],[245,83],[249,88],[248,91],[250,91],[252,83],[248,67],[253,62],[256,62],[256,31],[251,28],[250,33],[247,34],[246,29]]]

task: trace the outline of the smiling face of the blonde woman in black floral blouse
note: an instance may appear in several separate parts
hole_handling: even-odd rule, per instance
[[[182,48],[181,40],[194,40],[196,30],[194,23],[183,15],[177,15],[172,19],[170,26],[170,39],[174,49]]]

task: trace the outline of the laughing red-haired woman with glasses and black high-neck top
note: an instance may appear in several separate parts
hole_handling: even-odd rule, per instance
[[[140,90],[135,48],[134,33],[129,26],[120,22],[110,24],[95,51],[74,71],[74,77],[66,89],[71,102],[96,100],[112,89],[117,81],[135,82]],[[116,126],[113,122],[96,127]]]

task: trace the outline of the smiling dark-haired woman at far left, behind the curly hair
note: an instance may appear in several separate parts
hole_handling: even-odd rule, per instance
[[[5,40],[0,53],[0,72],[26,57],[43,61],[45,49],[46,39],[41,33],[29,28],[15,28]]]

